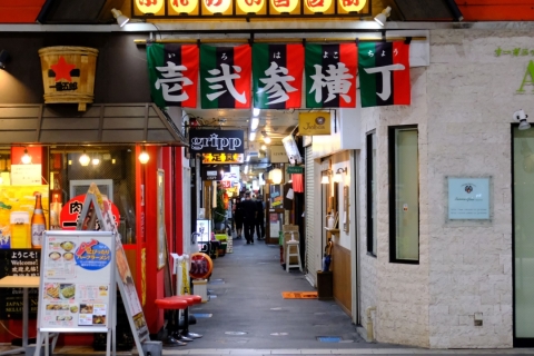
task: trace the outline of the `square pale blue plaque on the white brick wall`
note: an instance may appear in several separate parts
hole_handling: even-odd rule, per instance
[[[490,219],[490,178],[448,178],[448,218]]]

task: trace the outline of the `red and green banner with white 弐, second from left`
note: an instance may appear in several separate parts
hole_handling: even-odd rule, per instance
[[[250,108],[251,49],[200,46],[202,109]]]

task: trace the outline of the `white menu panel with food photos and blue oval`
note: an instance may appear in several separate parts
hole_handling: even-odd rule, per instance
[[[46,231],[39,289],[40,332],[110,328],[113,303],[113,234]]]

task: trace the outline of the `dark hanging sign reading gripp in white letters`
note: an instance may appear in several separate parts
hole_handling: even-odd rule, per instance
[[[243,130],[189,130],[192,154],[245,154]]]

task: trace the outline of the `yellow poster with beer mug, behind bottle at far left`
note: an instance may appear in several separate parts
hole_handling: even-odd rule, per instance
[[[37,195],[48,228],[48,186],[0,186],[0,248],[31,248],[31,220]]]

